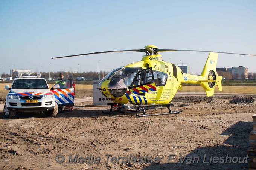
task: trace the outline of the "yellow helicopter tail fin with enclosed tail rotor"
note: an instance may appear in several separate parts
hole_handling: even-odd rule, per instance
[[[222,91],[222,76],[218,76],[216,71],[217,60],[218,53],[210,52],[204,65],[204,69],[201,73],[201,76],[204,77],[204,80],[200,80],[200,85],[204,88],[207,97],[214,94],[214,89],[216,86],[218,86],[219,91]]]

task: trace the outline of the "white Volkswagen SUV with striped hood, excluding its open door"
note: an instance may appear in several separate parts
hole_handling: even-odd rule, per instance
[[[13,118],[16,112],[44,112],[46,116],[54,117],[58,113],[58,104],[41,74],[37,76],[22,76],[12,81],[11,87],[5,86],[10,90],[6,96],[4,106],[5,116]]]

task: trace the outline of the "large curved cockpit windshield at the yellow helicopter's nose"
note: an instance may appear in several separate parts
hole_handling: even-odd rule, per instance
[[[110,82],[108,84],[108,89],[127,89],[131,86],[134,76],[137,72],[142,70],[139,67],[123,67],[117,72],[110,76]]]

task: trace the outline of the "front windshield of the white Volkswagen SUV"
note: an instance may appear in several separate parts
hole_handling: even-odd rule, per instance
[[[12,89],[48,89],[44,79],[17,79],[12,84]]]

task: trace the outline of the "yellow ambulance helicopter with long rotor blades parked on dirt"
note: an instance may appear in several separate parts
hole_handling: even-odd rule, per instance
[[[177,90],[182,89],[181,84],[200,84],[204,88],[207,97],[214,94],[214,89],[216,86],[218,86],[219,91],[222,91],[222,76],[218,76],[216,72],[218,53],[237,54],[229,52],[159,49],[155,45],[148,45],[141,49],[93,52],[55,58],[125,51],[145,52],[146,55],[143,55],[141,61],[112,70],[99,83],[99,90],[101,93],[106,98],[114,102],[111,104],[110,111],[104,113],[113,113],[112,109],[114,104],[138,105],[139,107],[137,107],[136,110],[130,110],[130,112],[139,111],[141,108],[143,115],[136,114],[137,116],[180,113],[182,111],[171,111],[170,106],[173,104],[168,103],[172,100]],[[206,60],[206,64],[204,65],[204,69],[201,75],[198,76],[183,73],[180,67],[177,65],[165,62],[162,59],[162,56],[158,54],[158,52],[165,51],[210,52],[210,54]],[[166,106],[169,112],[159,114],[146,114],[144,107],[147,106]],[[119,113],[120,112],[129,111],[119,111]]]

